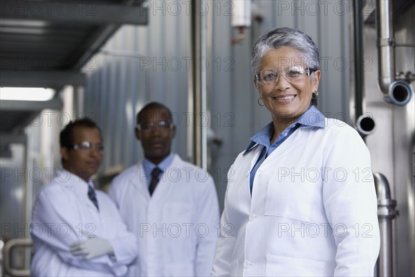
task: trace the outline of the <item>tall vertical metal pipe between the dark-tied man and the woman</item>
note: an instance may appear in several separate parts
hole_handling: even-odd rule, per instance
[[[208,3],[203,0],[192,1],[191,52],[192,70],[190,73],[190,111],[193,119],[192,161],[201,168],[207,168],[207,125],[201,118],[206,114],[206,15]]]

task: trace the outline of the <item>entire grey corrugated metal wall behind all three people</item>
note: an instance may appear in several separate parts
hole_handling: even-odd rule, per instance
[[[208,118],[222,139],[211,148],[210,172],[223,204],[226,172],[252,134],[270,121],[257,105],[250,75],[250,49],[256,37],[279,26],[299,28],[320,47],[320,109],[349,122],[349,12],[351,1],[254,1],[263,20],[254,21],[243,42],[234,43],[231,1],[207,1]],[[86,65],[84,113],[96,116],[107,147],[104,170],[130,166],[142,158],[135,140],[135,114],[150,100],[168,105],[178,118],[174,152],[188,159],[187,80],[190,57],[190,1],[148,1],[149,25],[124,26]],[[206,63],[208,62],[208,63]]]

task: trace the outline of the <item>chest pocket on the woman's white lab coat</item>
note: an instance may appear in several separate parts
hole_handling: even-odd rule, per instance
[[[310,208],[316,185],[307,180],[295,180],[291,175],[273,172],[266,191],[265,215],[310,221]]]

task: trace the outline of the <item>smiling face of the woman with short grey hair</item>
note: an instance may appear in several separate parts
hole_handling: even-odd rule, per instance
[[[270,50],[262,57],[260,71],[275,69],[282,73],[284,69],[291,66],[307,68],[301,53],[294,48],[284,46],[277,50]],[[320,74],[320,71],[315,71],[313,75],[305,74],[295,82],[288,82],[282,73],[279,74],[277,82],[273,84],[260,84],[255,79],[255,86],[273,119],[291,123],[310,107],[311,96],[317,91],[320,82]]]

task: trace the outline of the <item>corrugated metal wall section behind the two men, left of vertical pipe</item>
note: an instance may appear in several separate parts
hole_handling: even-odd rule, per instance
[[[84,68],[89,75],[84,114],[93,116],[102,127],[104,170],[129,166],[141,157],[133,130],[135,115],[147,102],[163,102],[177,120],[185,121],[189,19],[163,17],[163,10],[150,10],[153,13],[156,16],[151,16],[147,27],[122,27]],[[185,125],[178,126],[178,131],[174,149],[183,154]]]

